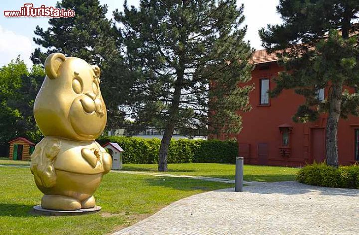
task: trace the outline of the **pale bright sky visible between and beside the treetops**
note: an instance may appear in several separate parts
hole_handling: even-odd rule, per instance
[[[32,3],[34,7],[45,5],[55,6],[58,0],[6,0],[0,1],[0,66],[8,64],[18,55],[30,67],[30,55],[38,47],[33,42],[34,30],[37,25],[47,29],[48,17],[5,17],[4,10],[20,10],[24,3]],[[139,0],[128,0],[128,5],[138,6]],[[276,12],[279,0],[237,0],[237,5],[244,4],[244,25],[248,26],[245,40],[257,49],[263,49],[258,30],[267,24],[281,23],[280,15]],[[100,0],[107,4],[107,17],[112,18],[115,9],[122,11],[124,0]]]

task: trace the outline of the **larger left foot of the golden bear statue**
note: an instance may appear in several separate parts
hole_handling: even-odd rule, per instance
[[[45,209],[73,211],[81,209],[81,203],[75,198],[62,195],[44,195],[41,206]]]

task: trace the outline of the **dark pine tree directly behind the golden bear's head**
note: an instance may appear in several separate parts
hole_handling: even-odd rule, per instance
[[[123,121],[118,106],[127,99],[130,79],[121,55],[121,35],[112,20],[106,18],[107,5],[98,0],[62,0],[57,8],[73,9],[73,18],[51,18],[47,30],[36,27],[34,42],[44,48],[35,49],[31,59],[43,64],[53,52],[75,56],[101,68],[101,91],[108,109],[108,127],[116,128]]]

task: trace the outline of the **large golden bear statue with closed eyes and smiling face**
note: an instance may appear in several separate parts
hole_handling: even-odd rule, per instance
[[[45,61],[46,77],[34,116],[45,136],[31,155],[31,172],[52,210],[95,207],[94,192],[111,169],[111,156],[95,139],[107,113],[99,88],[100,68],[61,53]]]

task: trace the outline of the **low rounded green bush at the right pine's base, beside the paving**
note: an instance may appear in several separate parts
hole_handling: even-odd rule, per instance
[[[304,184],[359,189],[359,166],[328,166],[314,163],[299,170],[297,181]]]

